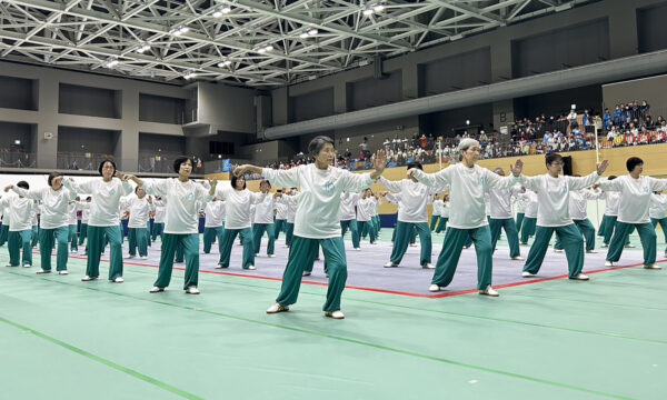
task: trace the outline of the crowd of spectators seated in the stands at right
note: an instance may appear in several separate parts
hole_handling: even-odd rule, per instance
[[[573,108],[559,116],[547,118],[541,114],[535,119],[517,120],[502,133],[491,130],[492,133],[480,130],[478,134],[464,132],[448,138],[415,133],[408,139],[396,134],[382,143],[387,152],[387,166],[400,167],[414,161],[434,163],[438,157],[446,162],[457,156],[457,146],[465,138],[479,140],[481,159],[590,150],[595,149],[596,134],[600,147],[605,148],[667,141],[667,122],[661,116],[654,119],[647,101],[617,104],[614,112],[606,109],[601,116],[589,110],[579,113]],[[349,148],[339,149],[337,166],[349,170],[369,169],[374,150],[369,149],[368,139],[364,138],[355,152]],[[290,162],[273,162],[267,167],[289,169],[310,162],[313,160],[299,153]]]

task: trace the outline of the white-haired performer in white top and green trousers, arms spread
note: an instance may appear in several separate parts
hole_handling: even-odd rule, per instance
[[[408,171],[409,177],[428,187],[450,186],[451,188],[449,227],[428,290],[437,292],[449,286],[458,267],[464,243],[471,238],[477,253],[477,289],[480,294],[497,297],[498,292],[491,287],[494,249],[484,194],[488,189],[509,189],[516,184],[524,163],[517,160],[515,166],[510,166],[512,176],[501,177],[477,166],[480,151],[477,140],[461,139],[458,151],[461,162],[439,172],[425,173],[417,168]]]

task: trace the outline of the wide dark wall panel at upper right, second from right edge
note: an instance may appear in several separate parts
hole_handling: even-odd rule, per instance
[[[609,59],[607,19],[516,40],[511,44],[515,78],[585,66]]]

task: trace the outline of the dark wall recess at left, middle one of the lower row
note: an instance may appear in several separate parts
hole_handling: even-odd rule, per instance
[[[120,132],[58,127],[58,152],[115,154]]]

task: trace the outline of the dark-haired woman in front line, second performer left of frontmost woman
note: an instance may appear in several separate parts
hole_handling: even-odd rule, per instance
[[[107,238],[111,249],[109,260],[109,280],[122,283],[122,230],[118,211],[120,198],[132,192],[128,178],[116,170],[112,160],[100,162],[98,172],[102,179],[89,179],[76,182],[71,179],[63,180],[62,184],[74,193],[88,193],[92,196],[90,202],[90,216],[88,219],[88,260],[86,263],[86,277],[81,280],[88,282],[98,279],[100,274],[100,256],[102,242]],[[113,178],[118,179],[113,179]]]

